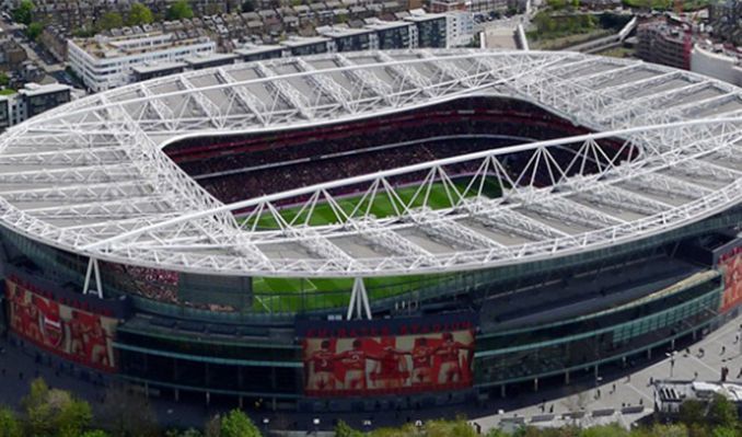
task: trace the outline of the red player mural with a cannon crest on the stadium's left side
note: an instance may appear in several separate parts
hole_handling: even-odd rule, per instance
[[[104,371],[115,370],[112,346],[116,319],[60,304],[5,280],[10,327],[47,350]]]

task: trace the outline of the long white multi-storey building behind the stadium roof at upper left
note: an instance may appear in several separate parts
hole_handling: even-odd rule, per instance
[[[137,66],[181,62],[217,50],[217,44],[207,36],[178,38],[172,33],[96,35],[68,39],[67,46],[70,67],[95,92],[134,82]]]

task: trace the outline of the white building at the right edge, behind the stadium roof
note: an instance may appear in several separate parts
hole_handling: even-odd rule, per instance
[[[696,44],[691,51],[691,71],[742,87],[742,53]]]

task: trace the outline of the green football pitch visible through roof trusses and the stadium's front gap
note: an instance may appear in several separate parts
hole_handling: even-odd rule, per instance
[[[460,193],[463,193],[469,181],[457,180],[454,182]],[[395,188],[396,195],[405,203],[409,203],[419,186],[406,186]],[[487,197],[494,198],[500,196],[500,187],[496,181],[485,181],[483,194]],[[472,193],[474,195],[474,193]],[[442,209],[451,207],[451,202],[447,195],[443,184],[431,185],[428,195],[427,205],[433,209]],[[422,205],[424,196],[421,194],[413,202],[413,207]],[[338,200],[338,205],[346,214],[350,214],[353,208],[363,200],[362,196],[346,197]],[[369,208],[368,204],[361,205],[361,208]],[[394,206],[390,196],[385,194],[376,194],[372,204],[370,205],[370,212],[378,218],[389,217],[395,214]],[[301,207],[288,207],[280,210],[281,217],[291,221],[298,218],[299,222],[305,220],[305,212],[301,211]],[[301,215],[302,217],[297,217]],[[333,208],[326,204],[317,204],[314,207],[310,225],[322,226],[336,221]],[[255,226],[248,222],[246,226]],[[277,229],[278,223],[270,215],[263,215],[256,225],[257,229]],[[389,277],[370,277],[364,279],[366,288],[371,300],[382,299],[411,291],[425,285],[432,284],[440,280],[441,276],[389,276]],[[254,309],[256,311],[265,312],[295,312],[302,310],[312,310],[321,308],[343,308],[348,304],[350,290],[352,288],[352,278],[268,278],[256,277],[253,278],[253,294],[255,296]]]

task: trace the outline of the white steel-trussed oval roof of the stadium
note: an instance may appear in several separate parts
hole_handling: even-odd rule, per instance
[[[297,188],[232,205],[162,151],[181,138],[252,133],[391,114],[465,95],[541,105],[596,134]],[[619,138],[616,162],[598,146]],[[571,162],[554,151],[578,150]],[[575,53],[414,50],[331,54],[186,72],[60,106],[0,137],[0,220],[95,260],[221,275],[399,275],[507,265],[644,239],[733,207],[742,197],[742,91],[636,60]],[[502,157],[530,151],[519,175]],[[478,171],[463,193],[457,163]],[[588,172],[591,164],[598,172]],[[424,174],[419,195],[390,179]],[[482,195],[497,177],[499,198]],[[536,174],[550,184],[538,186]],[[443,184],[452,207],[426,207]],[[338,193],[385,197],[396,214]],[[287,221],[277,205],[301,199]],[[309,226],[329,203],[336,220]],[[368,203],[366,204],[368,205]],[[248,211],[247,220],[232,211]],[[273,216],[280,229],[255,225]]]

